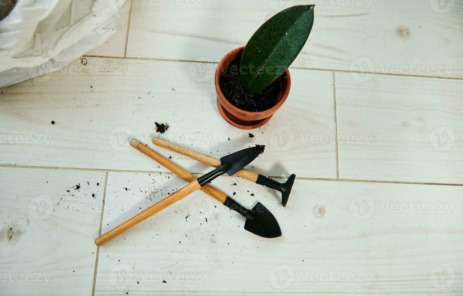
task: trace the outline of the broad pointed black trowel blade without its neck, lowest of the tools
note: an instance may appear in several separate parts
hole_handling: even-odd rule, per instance
[[[268,239],[282,236],[282,230],[275,216],[260,202],[257,202],[246,215],[244,229]]]

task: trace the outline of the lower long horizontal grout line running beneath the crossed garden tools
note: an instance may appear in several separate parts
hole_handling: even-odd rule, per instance
[[[28,165],[10,165],[10,164],[0,164],[0,168],[23,168],[23,169],[44,169],[44,170],[83,170],[83,171],[103,171],[103,172],[121,172],[121,173],[143,173],[143,174],[145,174],[145,173],[172,174],[169,171],[160,171],[160,170],[83,169],[83,168],[50,167],[50,166],[28,166]],[[204,175],[204,173],[194,173],[194,172],[192,172],[192,174],[194,174],[194,175]],[[228,175],[224,175],[224,176],[228,176]],[[288,179],[288,177],[282,177],[282,176],[268,176],[268,177],[272,178],[272,179]],[[313,177],[296,177],[296,180],[463,186],[463,183],[405,182],[405,181],[356,180],[356,179],[313,178]]]

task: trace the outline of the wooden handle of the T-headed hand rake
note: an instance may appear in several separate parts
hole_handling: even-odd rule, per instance
[[[180,153],[181,155],[188,156],[190,158],[193,158],[194,160],[197,160],[203,164],[213,166],[215,168],[219,167],[220,165],[220,160],[215,157],[193,151],[191,149],[182,147],[174,143],[170,143],[169,141],[166,141],[161,138],[154,137],[153,144],[169,149],[170,151]],[[259,174],[255,172],[251,172],[250,170],[242,169],[242,170],[238,170],[238,172],[236,172],[234,176],[238,176],[243,179],[256,183],[257,177],[259,176]]]

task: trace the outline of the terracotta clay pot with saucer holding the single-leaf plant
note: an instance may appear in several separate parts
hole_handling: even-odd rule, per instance
[[[261,112],[250,112],[241,110],[233,106],[222,94],[220,89],[219,79],[220,74],[225,70],[225,68],[238,56],[241,56],[243,53],[244,46],[235,48],[230,51],[222,58],[217,69],[215,70],[215,91],[217,92],[217,108],[219,109],[220,115],[225,119],[226,122],[232,126],[244,129],[251,130],[260,126],[263,126],[270,120],[273,113],[276,112],[283,103],[286,101],[286,98],[289,94],[289,88],[291,87],[291,77],[289,76],[289,70],[286,69],[285,73],[280,76],[282,83],[282,93],[280,99],[275,104],[275,106]]]

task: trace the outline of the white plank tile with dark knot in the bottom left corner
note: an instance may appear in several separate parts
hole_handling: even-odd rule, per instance
[[[104,182],[104,172],[0,168],[2,295],[92,293]]]

